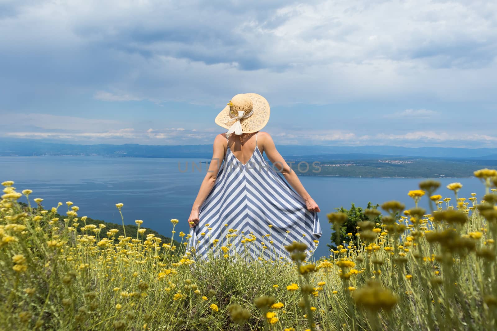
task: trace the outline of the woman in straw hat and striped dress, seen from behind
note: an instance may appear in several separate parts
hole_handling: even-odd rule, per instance
[[[320,208],[269,133],[259,132],[268,120],[269,104],[255,93],[237,94],[216,117],[216,124],[229,130],[214,140],[212,161],[188,218],[188,247],[197,256],[206,259],[212,250],[274,261],[288,257],[284,245],[293,241],[314,251],[322,234]]]

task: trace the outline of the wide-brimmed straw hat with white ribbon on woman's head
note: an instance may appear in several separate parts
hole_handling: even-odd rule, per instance
[[[228,129],[226,135],[257,132],[269,121],[269,103],[255,93],[235,95],[216,116],[216,124]]]

